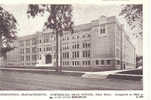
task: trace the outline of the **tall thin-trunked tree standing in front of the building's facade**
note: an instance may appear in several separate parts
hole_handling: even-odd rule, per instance
[[[61,71],[58,66],[59,37],[63,35],[64,31],[73,32],[72,5],[30,4],[27,10],[27,14],[32,17],[43,15],[45,12],[49,16],[44,26],[47,29],[53,29],[56,34],[56,71]]]

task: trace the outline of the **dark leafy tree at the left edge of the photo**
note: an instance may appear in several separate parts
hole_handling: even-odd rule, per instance
[[[12,43],[16,39],[17,21],[15,17],[0,6],[0,57],[6,64],[6,53],[14,49]]]

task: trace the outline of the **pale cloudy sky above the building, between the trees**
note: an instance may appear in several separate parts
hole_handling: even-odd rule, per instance
[[[44,22],[47,21],[48,16],[37,16],[35,18],[28,18],[26,11],[28,5],[26,4],[11,4],[11,5],[2,5],[4,9],[12,13],[18,22],[18,36],[25,36],[29,34],[34,34],[37,31],[42,31]],[[135,40],[130,34],[131,30],[129,26],[126,24],[124,18],[119,16],[121,11],[121,5],[80,5],[74,4],[73,5],[73,21],[75,25],[89,23],[92,20],[98,19],[100,16],[116,16],[119,21],[124,24],[125,29],[128,35],[131,37],[133,44],[136,48],[139,48],[138,53],[142,53],[142,45],[137,47],[138,40]]]

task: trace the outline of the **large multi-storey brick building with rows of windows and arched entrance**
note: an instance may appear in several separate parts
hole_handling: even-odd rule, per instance
[[[51,30],[18,38],[15,42],[18,48],[8,53],[8,65],[55,66],[55,39]],[[75,26],[74,33],[64,32],[60,40],[59,64],[64,67],[121,69],[136,66],[135,47],[115,16],[101,16]],[[11,61],[13,57],[15,60]]]

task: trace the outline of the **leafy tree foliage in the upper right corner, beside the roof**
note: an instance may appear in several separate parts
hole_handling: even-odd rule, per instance
[[[126,19],[134,31],[133,35],[143,37],[143,7],[141,4],[124,5],[119,15]]]

